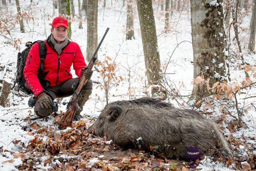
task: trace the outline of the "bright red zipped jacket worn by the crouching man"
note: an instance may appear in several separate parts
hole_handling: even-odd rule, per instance
[[[70,73],[70,70],[72,64],[76,71],[76,75],[80,78],[82,72],[81,69],[83,69],[86,64],[79,45],[69,41],[67,46],[62,49],[61,55],[58,56],[52,43],[49,42],[48,39],[45,42],[47,44],[47,55],[44,60],[44,73],[49,72],[44,79],[49,81],[49,87],[63,84],[65,81],[71,79],[72,74]],[[23,71],[25,80],[29,84],[35,97],[44,90],[38,79],[40,62],[39,44],[35,43],[29,51]]]

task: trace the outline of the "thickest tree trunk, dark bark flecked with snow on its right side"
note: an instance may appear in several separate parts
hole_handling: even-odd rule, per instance
[[[209,84],[212,86],[217,81],[227,79],[223,0],[217,0],[217,3],[212,3],[212,0],[190,2],[194,78],[204,75],[204,79],[209,78]],[[200,85],[193,87],[193,93],[196,93],[196,99],[209,95],[206,87]]]

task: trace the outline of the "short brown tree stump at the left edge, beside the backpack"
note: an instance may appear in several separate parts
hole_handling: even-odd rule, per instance
[[[1,95],[0,95],[0,105],[3,107],[9,106],[8,96],[11,91],[11,85],[12,85],[12,83],[9,83],[6,80],[3,80],[3,87],[2,87]]]

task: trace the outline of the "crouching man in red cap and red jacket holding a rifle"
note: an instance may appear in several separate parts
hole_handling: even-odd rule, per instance
[[[38,78],[40,68],[39,44],[35,43],[27,56],[24,68],[26,83],[34,93],[37,101],[35,102],[35,113],[45,117],[52,113],[52,101],[55,98],[71,96],[74,92],[74,85],[79,81],[86,66],[79,45],[67,39],[68,22],[64,17],[56,17],[52,21],[51,35],[45,40],[47,45],[47,55],[44,60],[44,79],[49,83],[48,87],[43,87]],[[71,65],[79,78],[72,78],[70,73]],[[84,103],[92,93],[92,81],[90,77],[92,71],[86,71],[88,79],[81,97],[78,99],[80,110],[76,111],[76,117],[81,117],[80,112]]]

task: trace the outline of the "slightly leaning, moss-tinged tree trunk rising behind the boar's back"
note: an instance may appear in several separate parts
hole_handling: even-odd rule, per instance
[[[159,76],[160,56],[157,51],[157,33],[152,0],[137,0],[137,8],[148,84],[156,85],[161,80]]]

